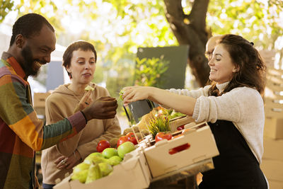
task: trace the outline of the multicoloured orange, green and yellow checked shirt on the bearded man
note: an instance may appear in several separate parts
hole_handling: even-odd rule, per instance
[[[4,52],[0,60],[0,188],[35,188],[35,151],[52,147],[86,126],[81,112],[43,125],[33,109],[21,65]]]

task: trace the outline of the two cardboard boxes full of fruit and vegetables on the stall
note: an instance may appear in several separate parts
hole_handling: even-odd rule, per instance
[[[119,138],[98,142],[96,152],[54,188],[148,188],[168,173],[218,154],[207,122],[196,124],[192,118],[158,107]]]

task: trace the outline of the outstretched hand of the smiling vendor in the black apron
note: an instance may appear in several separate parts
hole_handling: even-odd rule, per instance
[[[148,99],[154,91],[151,86],[127,86],[122,89],[124,105],[128,105],[134,101]]]

